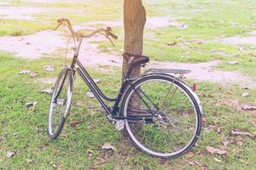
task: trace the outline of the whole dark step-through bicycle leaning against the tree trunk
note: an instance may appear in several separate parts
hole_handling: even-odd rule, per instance
[[[123,56],[129,63],[129,70],[117,97],[108,98],[80,63],[79,48],[83,38],[93,37],[96,33],[104,35],[110,42],[110,37],[118,37],[110,27],[85,35],[83,31],[74,31],[67,19],[58,20],[56,28],[62,25],[67,26],[78,46],[71,65],[59,74],[50,99],[48,134],[51,139],[59,136],[69,115],[77,71],[106,111],[107,119],[116,122],[119,130],[125,130],[137,149],[150,156],[174,158],[182,156],[195,145],[201,133],[201,103],[182,77],[172,75],[183,76],[189,71],[149,69],[141,77],[131,78],[132,71],[148,63],[149,58],[125,53]],[[113,106],[106,105],[106,100],[113,102]]]

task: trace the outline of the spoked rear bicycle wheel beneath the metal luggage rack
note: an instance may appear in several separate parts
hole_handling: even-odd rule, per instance
[[[148,155],[182,156],[200,136],[200,102],[176,77],[151,75],[139,79],[128,89],[121,108],[128,117],[151,115],[144,121],[125,120],[131,141]]]

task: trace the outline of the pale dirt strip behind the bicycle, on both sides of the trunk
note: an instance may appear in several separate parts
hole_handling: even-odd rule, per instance
[[[97,36],[93,41],[101,40],[103,37]],[[67,44],[67,37],[63,37],[61,31],[40,31],[31,36],[23,37],[0,37],[0,50],[15,53],[26,59],[38,59],[44,56],[63,50]],[[70,47],[69,47],[70,48]],[[68,55],[72,57],[72,55]],[[118,55],[99,53],[96,43],[84,41],[80,50],[79,59],[88,66],[118,66],[122,65],[122,58]],[[209,82],[235,82],[241,86],[256,88],[256,82],[251,77],[242,75],[236,71],[218,71],[213,67],[221,61],[215,60],[207,63],[175,63],[151,61],[149,67],[167,69],[188,69],[191,73],[186,77]],[[43,80],[44,81],[44,80]],[[44,82],[48,82],[47,80]]]

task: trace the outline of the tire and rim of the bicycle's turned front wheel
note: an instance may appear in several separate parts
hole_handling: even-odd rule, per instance
[[[65,85],[67,85],[67,89],[64,89],[63,86]],[[67,90],[67,91],[65,92],[64,90]],[[65,94],[61,94],[62,91],[64,91]],[[56,97],[58,98],[60,95],[61,97],[67,97],[67,99],[63,99],[63,101],[65,101],[65,105],[64,105],[65,109],[61,111],[61,113],[59,113],[58,116],[60,117],[58,117],[57,122],[54,122],[53,121],[53,116],[55,116],[54,105],[55,106],[61,105],[61,104],[58,104],[58,101],[57,101],[58,99],[56,99]],[[69,115],[72,96],[73,96],[73,72],[69,71],[68,69],[63,69],[60,72],[59,76],[57,77],[57,80],[55,82],[55,86],[53,89],[53,94],[51,96],[50,103],[49,103],[48,135],[50,139],[56,139],[60,135],[61,130],[64,126],[64,123],[66,122],[67,116]],[[55,123],[57,126],[55,127],[55,131],[53,130],[53,123]]]

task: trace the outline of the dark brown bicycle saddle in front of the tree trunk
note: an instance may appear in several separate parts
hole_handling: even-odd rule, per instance
[[[143,65],[148,63],[149,57],[141,54],[123,54],[123,57],[126,61],[128,61],[129,65]]]

